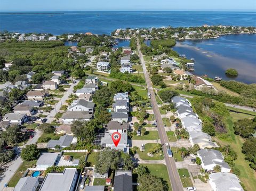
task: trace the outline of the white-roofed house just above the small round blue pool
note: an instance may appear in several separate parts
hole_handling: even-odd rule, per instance
[[[36,169],[46,170],[48,167],[53,167],[58,164],[59,158],[59,153],[43,152],[36,161]]]

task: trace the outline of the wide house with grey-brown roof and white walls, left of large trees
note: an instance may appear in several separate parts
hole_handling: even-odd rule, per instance
[[[92,114],[88,111],[67,111],[61,117],[64,124],[71,124],[75,120],[90,121]]]

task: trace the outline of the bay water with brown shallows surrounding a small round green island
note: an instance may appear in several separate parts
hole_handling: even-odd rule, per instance
[[[179,54],[195,59],[195,74],[214,78],[256,83],[256,35],[226,35],[217,39],[178,41],[173,47]],[[228,68],[238,71],[236,78],[225,75]]]

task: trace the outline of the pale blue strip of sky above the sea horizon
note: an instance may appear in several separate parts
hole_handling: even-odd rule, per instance
[[[255,0],[0,0],[0,11],[256,11]]]

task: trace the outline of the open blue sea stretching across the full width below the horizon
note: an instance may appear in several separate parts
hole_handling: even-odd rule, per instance
[[[256,12],[1,12],[0,30],[60,35],[93,32],[110,34],[117,28],[188,27],[203,24],[256,26]]]

